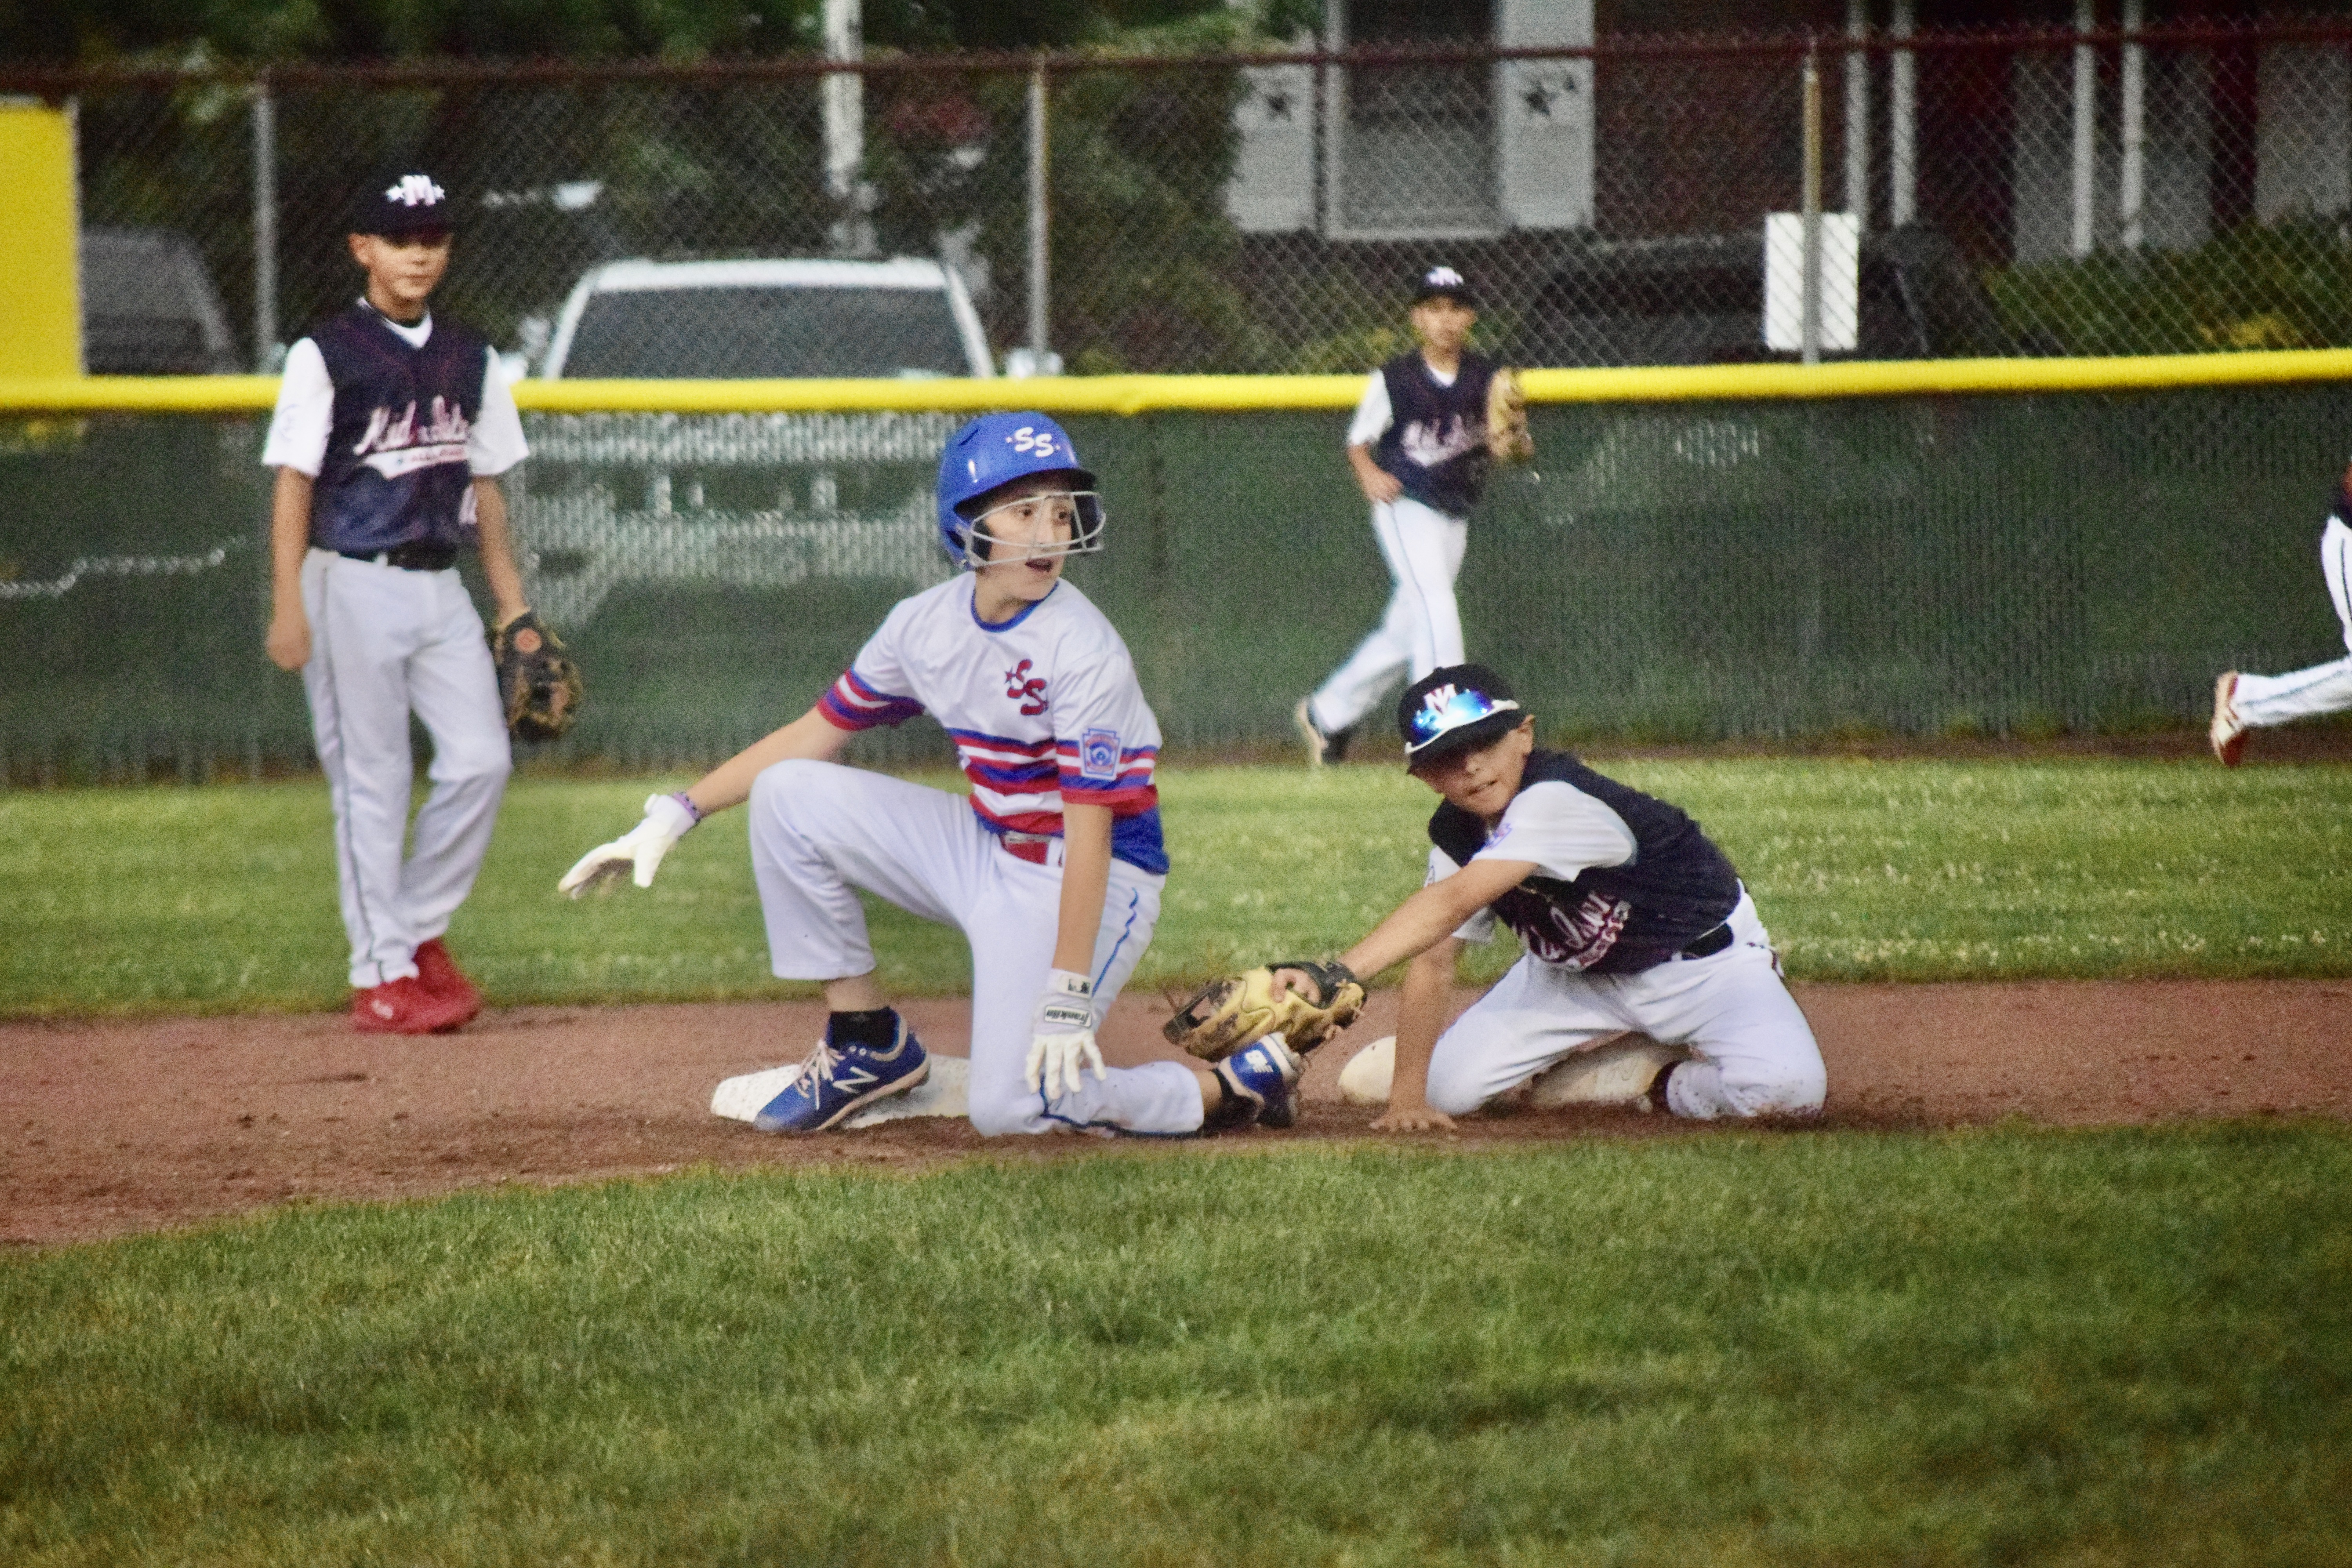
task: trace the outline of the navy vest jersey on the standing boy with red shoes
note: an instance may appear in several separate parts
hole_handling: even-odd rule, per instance
[[[489,343],[433,322],[423,348],[358,303],[310,341],[334,381],[334,423],[310,491],[310,543],[327,550],[473,543],[466,440],[482,411]]]

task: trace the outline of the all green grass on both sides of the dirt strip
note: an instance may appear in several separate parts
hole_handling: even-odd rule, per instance
[[[2352,769],[1606,771],[1708,825],[1797,976],[2352,971]],[[656,783],[515,785],[452,933],[496,1001],[790,990],[741,813],[647,893],[553,893]],[[1392,771],[1164,799],[1143,983],[1421,882]],[[0,795],[0,1013],[343,997],[315,783]],[[964,985],[953,933],[877,940]],[[2352,1561],[2343,1126],[1084,1154],[5,1255],[0,1561]]]

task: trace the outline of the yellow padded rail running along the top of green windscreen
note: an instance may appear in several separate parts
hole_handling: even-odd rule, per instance
[[[2143,393],[2187,386],[2352,381],[2352,348],[2147,355],[2124,360],[1882,360],[1860,364],[1693,364],[1526,371],[1531,402],[1740,402],[1926,393]],[[1042,376],[1033,381],[522,381],[543,414],[983,411],[1240,414],[1350,409],[1364,376]],[[275,376],[0,378],[5,414],[247,414]]]

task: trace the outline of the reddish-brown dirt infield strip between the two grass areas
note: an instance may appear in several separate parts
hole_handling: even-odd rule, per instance
[[[1465,997],[1468,999],[1468,997]],[[2352,980],[1799,985],[1842,1126],[2169,1117],[2352,1119]],[[962,1001],[908,1020],[962,1056]],[[1171,1056],[1167,1004],[1127,997],[1112,1063]],[[1308,1072],[1308,1112],[1244,1140],[1364,1138],[1338,1103],[1357,1041]],[[983,1140],[964,1121],[764,1138],[708,1112],[717,1079],[802,1056],[816,1004],[492,1011],[461,1034],[360,1037],[341,1016],[0,1023],[0,1244],[186,1225],[299,1199],[397,1199],[680,1166],[929,1164],[990,1147],[1068,1157],[1089,1138]],[[1465,1143],[1703,1135],[1616,1110],[1463,1121]]]

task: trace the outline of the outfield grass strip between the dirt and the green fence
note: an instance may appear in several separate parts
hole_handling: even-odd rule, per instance
[[[2352,973],[2352,769],[2180,762],[1613,762],[1740,865],[1797,978]],[[494,1001],[793,994],[743,813],[652,891],[555,879],[684,780],[522,778],[452,945]],[[941,778],[938,783],[950,783]],[[1432,797],[1390,769],[1171,766],[1176,870],[1138,985],[1345,947],[1421,886]],[[0,1016],[343,1001],[315,780],[0,795]],[[882,978],[967,987],[962,940],[877,910]],[[1508,943],[1472,954],[1498,973]],[[802,987],[804,990],[804,987]]]

